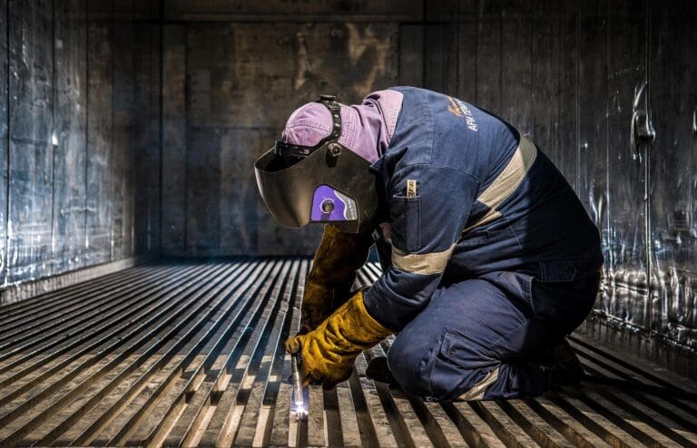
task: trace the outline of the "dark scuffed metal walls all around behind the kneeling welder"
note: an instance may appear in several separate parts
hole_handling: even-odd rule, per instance
[[[584,329],[670,364],[697,345],[695,23],[689,0],[2,1],[0,279],[311,254],[320,229],[270,219],[254,159],[318,93],[411,84],[550,155],[603,236]],[[642,83],[657,139],[636,148]]]

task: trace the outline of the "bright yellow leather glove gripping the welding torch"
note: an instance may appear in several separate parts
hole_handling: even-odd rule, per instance
[[[290,337],[286,350],[300,354],[304,384],[320,383],[331,389],[348,379],[361,351],[392,333],[370,317],[363,304],[363,291],[358,291],[317,328]]]

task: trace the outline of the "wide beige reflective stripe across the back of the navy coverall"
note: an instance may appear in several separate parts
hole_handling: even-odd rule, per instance
[[[513,157],[506,168],[496,176],[496,179],[489,185],[486,190],[476,198],[479,202],[489,207],[489,211],[471,226],[463,230],[474,229],[476,227],[487,224],[501,217],[501,213],[496,210],[513,192],[518,188],[520,183],[525,179],[527,171],[535,163],[537,158],[537,148],[535,143],[528,140],[524,136],[520,136],[518,148],[515,150]]]

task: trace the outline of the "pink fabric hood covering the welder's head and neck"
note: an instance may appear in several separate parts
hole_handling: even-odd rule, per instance
[[[404,95],[384,90],[370,93],[361,104],[341,104],[339,143],[370,163],[388,149],[395,132]],[[331,114],[319,102],[300,106],[290,115],[283,130],[283,141],[300,146],[315,146],[331,131]]]

